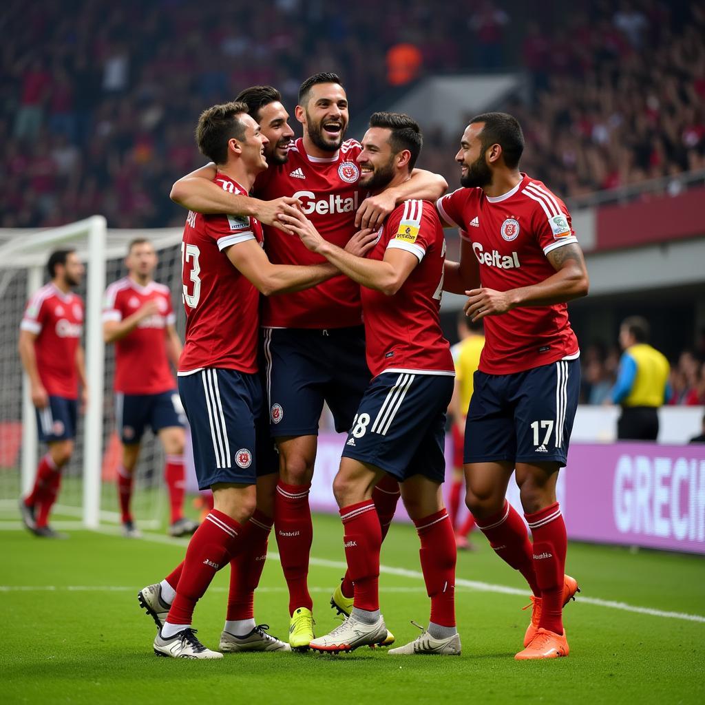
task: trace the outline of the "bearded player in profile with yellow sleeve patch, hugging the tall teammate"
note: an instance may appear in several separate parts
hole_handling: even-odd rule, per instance
[[[410,117],[375,113],[357,157],[360,185],[377,192],[405,183],[421,145],[419,127]],[[454,372],[439,320],[446,240],[436,210],[421,200],[400,204],[376,232],[367,259],[324,239],[304,214],[283,220],[309,249],[362,285],[367,362],[373,374],[333,482],[355,586],[353,611],[329,635],[313,639],[311,648],[350,651],[379,643],[386,634],[379,610],[381,527],[372,501],[372,488],[386,473],[400,482],[405,507],[417,527],[431,598],[428,629],[389,653],[460,654],[455,537],[441,494]]]

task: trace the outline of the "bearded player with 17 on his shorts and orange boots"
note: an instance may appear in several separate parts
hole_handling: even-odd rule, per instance
[[[519,171],[523,149],[512,116],[472,118],[455,155],[463,188],[437,203],[441,219],[465,231],[460,262],[446,263],[444,286],[469,295],[465,312],[483,321],[486,336],[465,422],[467,508],[533,593],[519,660],[568,656],[562,611],[578,587],[564,575],[556,480],[580,387],[566,302],[588,290],[568,209]],[[505,499],[515,470],[533,545]]]

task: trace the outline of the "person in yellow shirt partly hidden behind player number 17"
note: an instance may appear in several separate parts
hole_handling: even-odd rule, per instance
[[[472,397],[472,377],[477,370],[480,353],[484,345],[482,321],[473,323],[465,312],[458,316],[458,338],[460,342],[450,348],[455,364],[455,388],[453,398],[450,400],[448,414],[453,421],[453,482],[450,484],[450,498],[448,499],[448,515],[455,527],[455,543],[458,548],[471,548],[467,535],[475,525],[472,514],[467,515],[465,522],[457,527],[458,510],[460,510],[460,495],[462,494],[462,448],[465,439],[465,416],[467,407]]]

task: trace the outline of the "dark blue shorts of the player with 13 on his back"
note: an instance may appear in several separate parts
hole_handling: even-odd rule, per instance
[[[199,489],[221,482],[255,484],[278,472],[257,374],[207,368],[178,378],[191,427]]]

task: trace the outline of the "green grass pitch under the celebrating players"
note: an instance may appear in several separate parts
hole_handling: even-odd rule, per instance
[[[309,584],[317,634],[338,622],[329,608],[342,575],[342,529],[314,517]],[[568,572],[582,592],[565,608],[570,656],[513,660],[529,613],[521,577],[482,535],[458,558],[462,656],[388,656],[381,649],[321,654],[228,654],[222,661],[157,658],[154,623],[137,591],[183,558],[185,541],[150,533],[130,541],[71,532],[42,541],[0,532],[0,701],[3,703],[700,703],[705,701],[705,560],[655,551],[571,544]],[[270,551],[276,551],[271,541]],[[404,644],[429,605],[413,527],[395,525],[382,548],[381,608]],[[199,603],[195,627],[217,648],[228,573]],[[288,596],[276,554],[255,600],[258,623],[286,639]],[[620,604],[623,603],[623,604]],[[636,611],[635,611],[636,610]]]

